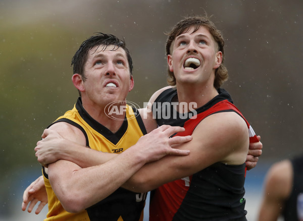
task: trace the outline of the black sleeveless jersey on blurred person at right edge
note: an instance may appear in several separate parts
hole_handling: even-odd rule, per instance
[[[292,190],[285,201],[283,217],[285,221],[303,220],[303,155],[291,159],[293,180]]]

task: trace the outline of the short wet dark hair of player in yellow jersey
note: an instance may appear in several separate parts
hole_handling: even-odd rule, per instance
[[[97,32],[95,35],[87,38],[82,42],[79,49],[76,51],[74,57],[72,58],[73,73],[81,75],[82,79],[85,80],[85,75],[83,72],[84,64],[87,60],[88,51],[96,45],[103,45],[103,50],[107,48],[108,45],[114,45],[115,47],[112,50],[117,50],[119,47],[123,48],[126,52],[128,64],[129,64],[129,72],[132,75],[133,65],[132,59],[130,56],[130,52],[126,47],[124,39],[121,40],[112,34],[104,34],[101,32]]]

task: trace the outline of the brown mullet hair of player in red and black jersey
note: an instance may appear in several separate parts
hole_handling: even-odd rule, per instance
[[[218,44],[218,51],[222,52],[222,64],[219,68],[216,69],[215,72],[215,81],[214,86],[216,89],[221,87],[224,81],[228,78],[228,71],[226,67],[223,65],[224,62],[224,39],[222,33],[216,28],[215,24],[207,17],[200,16],[189,16],[178,22],[173,29],[166,33],[168,35],[166,41],[166,55],[171,54],[170,47],[172,42],[176,39],[180,34],[188,31],[191,27],[194,28],[193,32],[196,32],[201,26],[208,28],[214,40]],[[167,82],[169,85],[176,85],[176,78],[173,72],[168,69],[168,78]]]

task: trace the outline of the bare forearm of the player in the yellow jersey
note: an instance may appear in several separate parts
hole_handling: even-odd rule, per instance
[[[49,165],[49,180],[64,208],[69,212],[78,212],[113,193],[142,167],[145,159],[128,149],[107,163],[78,168],[72,173],[64,171],[69,163],[58,161],[55,167],[57,172],[61,170],[60,175],[54,173],[56,169],[52,164]]]

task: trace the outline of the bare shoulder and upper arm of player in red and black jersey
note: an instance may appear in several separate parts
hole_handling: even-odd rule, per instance
[[[249,134],[245,121],[234,112],[208,116],[201,121],[192,134],[193,140],[216,152],[216,161],[241,164],[246,160]]]

